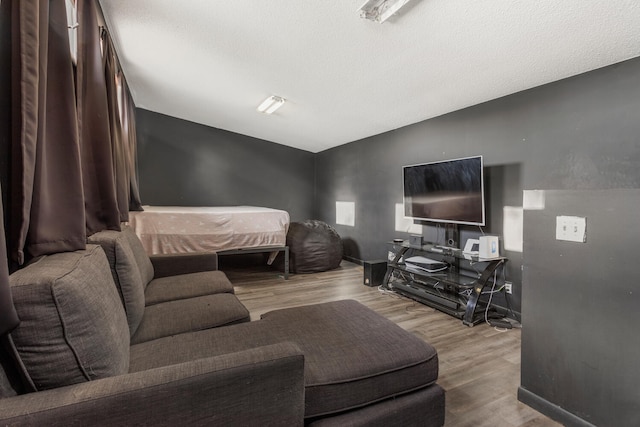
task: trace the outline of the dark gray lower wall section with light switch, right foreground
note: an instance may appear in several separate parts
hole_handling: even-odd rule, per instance
[[[525,212],[519,398],[565,425],[640,425],[640,190],[548,190]],[[584,243],[556,217],[587,219]]]

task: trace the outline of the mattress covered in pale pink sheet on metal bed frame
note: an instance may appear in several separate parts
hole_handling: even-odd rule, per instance
[[[150,255],[286,245],[287,211],[255,206],[143,208],[129,212],[129,225]]]

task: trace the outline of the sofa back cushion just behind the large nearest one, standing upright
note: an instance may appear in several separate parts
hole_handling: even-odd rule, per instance
[[[109,266],[111,267],[111,274],[113,275],[114,282],[118,286],[122,304],[127,315],[129,332],[133,335],[138,329],[142,316],[144,315],[144,290],[147,283],[151,280],[150,278],[147,280],[148,272],[145,269],[144,276],[141,274],[138,260],[131,250],[129,238],[124,232],[112,230],[100,231],[89,236],[88,241],[89,243],[96,243],[102,246],[102,249],[107,255]],[[151,263],[149,257],[147,257],[147,261]],[[153,267],[151,267],[151,274],[153,275]]]

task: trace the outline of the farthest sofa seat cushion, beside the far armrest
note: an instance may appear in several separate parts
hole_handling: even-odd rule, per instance
[[[153,279],[144,291],[147,306],[202,295],[234,293],[222,271],[203,271]]]

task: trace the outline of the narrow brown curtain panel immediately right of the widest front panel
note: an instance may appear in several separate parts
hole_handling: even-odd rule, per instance
[[[78,128],[81,140],[87,235],[120,230],[107,82],[96,4],[78,1]]]

